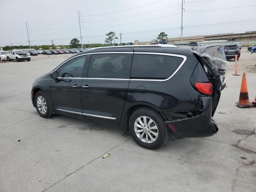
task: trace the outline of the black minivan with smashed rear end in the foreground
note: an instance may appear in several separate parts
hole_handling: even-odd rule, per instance
[[[32,104],[43,118],[62,114],[120,127],[142,147],[212,136],[220,73],[208,57],[173,45],[95,48],[35,80]]]

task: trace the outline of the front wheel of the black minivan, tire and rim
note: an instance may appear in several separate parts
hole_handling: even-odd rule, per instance
[[[50,107],[50,102],[42,91],[38,91],[35,96],[35,106],[38,114],[43,118],[50,118],[53,116],[52,109]]]

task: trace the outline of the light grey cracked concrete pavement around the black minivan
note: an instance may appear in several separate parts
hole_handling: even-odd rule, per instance
[[[36,114],[30,100],[32,82],[64,59],[40,55],[30,62],[0,64],[1,192],[255,192],[256,135],[232,132],[256,128],[256,108],[234,104],[241,77],[228,72],[228,88],[222,91],[214,115],[218,134],[170,138],[164,147],[146,150],[123,130]],[[239,62],[244,62],[243,56]],[[249,72],[246,76],[252,100],[256,76]],[[108,152],[108,158],[101,158]]]

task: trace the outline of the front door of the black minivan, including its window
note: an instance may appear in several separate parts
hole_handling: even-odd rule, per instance
[[[58,68],[58,79],[50,84],[50,96],[54,110],[59,114],[82,116],[81,85],[89,56],[72,58]]]

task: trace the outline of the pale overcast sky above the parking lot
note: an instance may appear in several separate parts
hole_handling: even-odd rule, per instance
[[[252,0],[184,0],[183,36],[243,33],[256,30]],[[150,41],[160,32],[181,36],[182,0],[0,0],[0,47],[104,43],[106,33],[116,43]],[[80,40],[81,41],[81,40]]]

